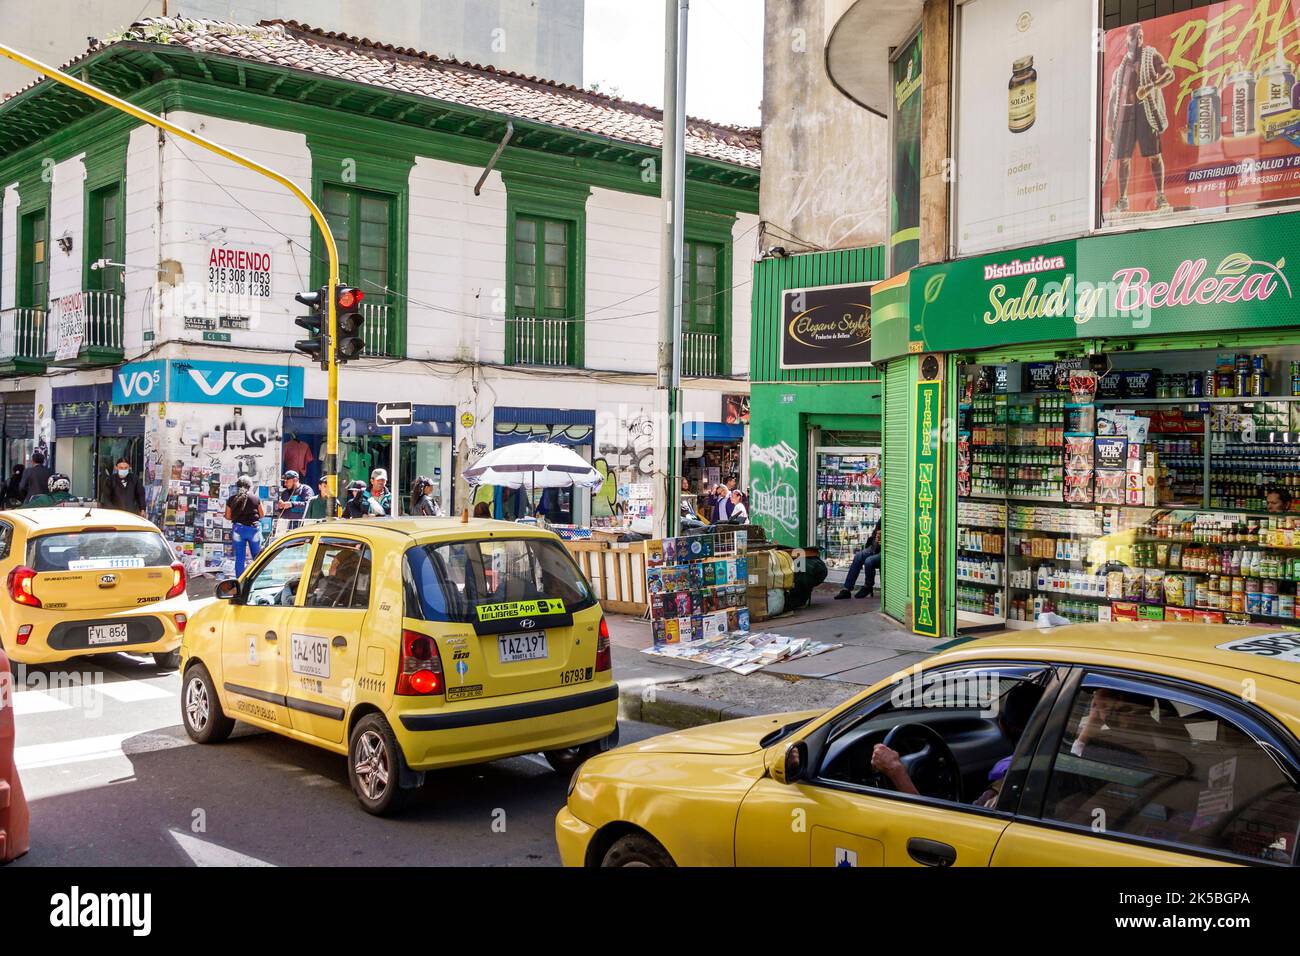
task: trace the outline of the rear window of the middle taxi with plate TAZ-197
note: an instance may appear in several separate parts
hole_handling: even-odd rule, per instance
[[[420,545],[406,553],[408,618],[468,624],[481,604],[560,598],[564,610],[595,604],[573,558],[547,538],[482,538]]]

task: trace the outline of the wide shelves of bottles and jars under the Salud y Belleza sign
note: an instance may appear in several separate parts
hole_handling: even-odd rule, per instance
[[[1161,363],[962,367],[959,626],[1300,623],[1300,395],[1262,355]]]

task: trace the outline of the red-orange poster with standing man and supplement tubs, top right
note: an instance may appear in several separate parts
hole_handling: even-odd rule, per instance
[[[1232,0],[1105,34],[1104,225],[1300,198],[1300,0]]]

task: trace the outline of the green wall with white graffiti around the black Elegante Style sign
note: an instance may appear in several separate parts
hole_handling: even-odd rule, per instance
[[[783,368],[783,302],[794,289],[881,278],[884,248],[763,259],[754,264],[750,355],[750,515],[784,545],[818,538],[819,442],[879,446],[881,382],[870,364]]]

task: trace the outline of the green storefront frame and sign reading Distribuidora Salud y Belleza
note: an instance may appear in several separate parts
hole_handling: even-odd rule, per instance
[[[1253,354],[1271,368],[1269,390],[1256,397],[1292,414],[1291,428],[1274,440],[1283,447],[1274,451],[1300,445],[1300,403],[1294,402],[1300,385],[1291,381],[1291,363],[1300,359],[1300,213],[1093,235],[919,267],[880,284],[872,304],[872,360],[884,384],[885,497],[892,505],[907,502],[885,510],[884,610],[918,633],[952,636],[967,626],[957,613],[958,442],[970,434],[962,431],[970,407],[962,389],[972,368],[1140,367],[1157,378],[1169,373],[1191,381],[1216,358]],[[1013,403],[1018,382],[1013,372]],[[1204,416],[1205,445],[1197,454],[1205,458],[1209,502],[1217,467],[1210,416],[1243,403],[1175,394],[1109,405]],[[1100,398],[1098,408],[1108,405]],[[927,447],[937,453],[935,483],[920,467]],[[1300,449],[1295,454],[1300,462]],[[907,486],[890,496],[889,479],[900,473]],[[923,551],[932,553],[928,563]],[[927,624],[932,620],[937,628]]]

